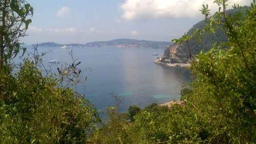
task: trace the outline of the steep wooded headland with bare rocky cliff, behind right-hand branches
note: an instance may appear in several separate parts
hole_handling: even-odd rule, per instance
[[[245,7],[237,8],[237,9],[230,9],[227,10],[226,13],[234,13],[238,11],[242,11],[245,13]],[[215,18],[217,15],[213,15],[210,18]],[[195,24],[192,28],[190,28],[187,32],[187,34],[192,35],[196,29],[203,30],[206,26],[207,21],[201,20],[199,23]],[[176,63],[187,63],[189,61],[189,50],[188,45],[190,47],[191,54],[196,57],[196,55],[199,54],[200,51],[207,52],[211,49],[212,44],[216,43],[217,46],[219,46],[221,43],[227,42],[227,35],[225,31],[222,28],[221,25],[215,25],[214,33],[203,33],[200,35],[200,42],[198,41],[199,35],[195,34],[193,37],[187,40],[186,42],[182,42],[180,44],[173,44],[170,45],[168,48],[164,51],[164,58],[170,58],[171,61]]]

